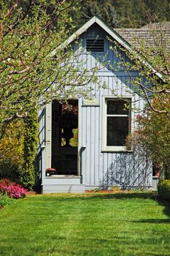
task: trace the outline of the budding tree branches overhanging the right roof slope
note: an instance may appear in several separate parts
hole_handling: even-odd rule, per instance
[[[133,38],[133,44],[124,48],[115,45],[113,50],[120,58],[120,67],[128,72],[133,90],[143,97],[152,111],[164,113],[170,120],[170,38],[169,31],[164,31],[161,24],[147,30],[147,39]],[[120,53],[128,56],[128,59]],[[136,71],[133,76],[131,71]],[[155,105],[155,101],[159,104]]]

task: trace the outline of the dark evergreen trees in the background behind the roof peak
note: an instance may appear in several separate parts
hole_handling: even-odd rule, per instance
[[[170,20],[169,0],[82,0],[79,11],[72,12],[76,26],[94,15],[112,28],[140,28],[150,22]]]

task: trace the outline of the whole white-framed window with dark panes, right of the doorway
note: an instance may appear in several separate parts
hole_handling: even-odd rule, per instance
[[[125,151],[131,133],[131,98],[104,98],[103,150]]]

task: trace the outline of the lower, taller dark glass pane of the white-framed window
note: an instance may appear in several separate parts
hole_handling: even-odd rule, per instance
[[[125,146],[128,117],[107,117],[107,146]]]

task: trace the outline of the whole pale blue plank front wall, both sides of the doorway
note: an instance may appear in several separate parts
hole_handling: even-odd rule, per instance
[[[119,67],[120,61],[117,58],[113,50],[110,49],[112,42],[107,39],[107,34],[100,29],[99,26],[93,25],[90,29],[80,38],[82,46],[85,46],[87,38],[91,37],[103,37],[104,38],[104,53],[86,53],[81,49],[79,56],[82,59],[82,68],[86,67],[88,70],[93,68],[98,63],[98,83],[92,84],[93,86],[93,98],[98,100],[98,105],[85,105],[83,97],[80,99],[80,120],[79,120],[79,175],[80,183],[85,185],[86,189],[93,189],[94,187],[112,187],[120,186],[123,188],[128,187],[152,187],[152,165],[147,159],[144,152],[139,151],[138,148],[134,148],[132,152],[104,152],[102,151],[102,115],[103,115],[103,98],[104,96],[112,96],[116,94],[120,97],[131,96],[134,99],[134,122],[133,128],[135,129],[136,115],[144,107],[144,100],[140,99],[137,94],[134,93],[130,78],[123,69]],[[79,51],[80,48],[75,50]],[[127,60],[127,58],[122,56]],[[110,61],[111,66],[107,63],[103,64],[103,59]],[[137,76],[136,72],[131,71],[131,75]],[[106,87],[103,87],[105,83]],[[46,112],[50,108],[46,108]],[[46,127],[43,121],[40,122],[40,129],[43,134],[47,136],[47,116],[51,113],[46,113]],[[50,117],[49,117],[50,118]],[[49,131],[49,129],[48,129]],[[41,135],[42,136],[42,135]],[[48,134],[48,140],[50,135]],[[42,136],[41,143],[45,139]],[[50,143],[46,142],[45,151],[42,151],[44,155],[44,163],[42,163],[42,169],[45,173],[46,165],[45,159],[50,159]],[[47,162],[48,160],[46,160]],[[42,184],[49,185],[47,191],[50,191],[50,185],[57,186],[58,182],[54,178],[47,178],[45,175],[42,178]],[[83,189],[83,188],[81,188]],[[51,190],[54,192],[54,187]],[[63,191],[63,190],[62,190]],[[75,191],[77,191],[75,189]]]

